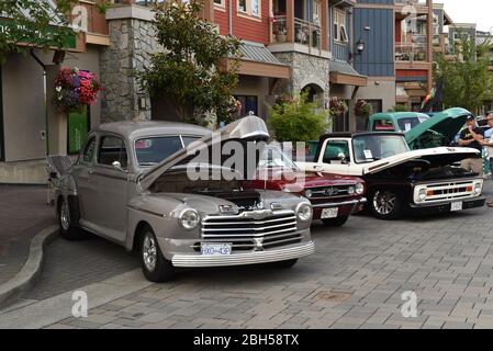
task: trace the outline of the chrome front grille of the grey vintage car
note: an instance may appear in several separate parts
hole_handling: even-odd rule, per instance
[[[264,218],[208,216],[202,219],[202,242],[231,242],[233,251],[264,250],[300,242],[293,211],[273,212]],[[200,242],[193,248],[200,250]]]

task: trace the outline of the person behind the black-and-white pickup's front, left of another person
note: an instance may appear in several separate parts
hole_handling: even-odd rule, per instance
[[[475,118],[473,115],[468,117],[466,125],[467,128],[460,133],[459,145],[462,147],[474,148],[480,152],[473,158],[462,160],[460,167],[483,177],[483,159],[481,157],[483,150],[483,145],[481,143],[484,139],[483,132],[475,126]]]

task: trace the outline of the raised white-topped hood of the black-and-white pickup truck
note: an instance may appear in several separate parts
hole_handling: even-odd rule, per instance
[[[466,147],[437,147],[433,149],[414,150],[384,158],[363,166],[363,174],[376,174],[383,170],[404,165],[406,162],[424,161],[432,167],[442,167],[459,162],[479,155],[477,149]]]

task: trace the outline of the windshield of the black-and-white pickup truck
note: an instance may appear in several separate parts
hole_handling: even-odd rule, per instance
[[[361,135],[352,139],[356,163],[367,163],[410,150],[401,135]]]

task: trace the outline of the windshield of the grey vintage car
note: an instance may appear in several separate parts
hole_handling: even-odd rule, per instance
[[[161,136],[135,140],[135,155],[138,166],[154,166],[178,150],[187,147],[190,143],[199,139],[198,136]]]

